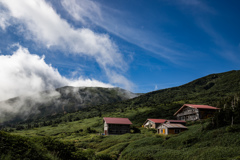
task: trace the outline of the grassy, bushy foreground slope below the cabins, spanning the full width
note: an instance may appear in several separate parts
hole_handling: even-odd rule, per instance
[[[209,129],[209,121],[188,125],[179,135],[138,133],[102,136],[101,118],[68,122],[56,127],[0,132],[1,159],[41,155],[40,159],[240,159],[240,125]],[[90,127],[90,129],[89,129]],[[133,132],[133,130],[132,130]],[[30,147],[31,146],[31,147]],[[67,158],[66,158],[67,157]]]

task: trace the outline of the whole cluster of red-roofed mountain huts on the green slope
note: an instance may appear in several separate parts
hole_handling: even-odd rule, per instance
[[[147,119],[142,127],[157,129],[158,134],[178,134],[187,129],[186,121],[196,121],[212,117],[219,110],[208,105],[184,104],[175,114],[177,120]],[[128,118],[104,117],[104,134],[119,135],[130,133],[132,122]]]

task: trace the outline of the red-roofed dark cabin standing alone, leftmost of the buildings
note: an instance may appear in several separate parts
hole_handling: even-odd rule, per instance
[[[130,125],[132,122],[128,118],[104,117],[103,121],[105,135],[120,135],[130,133]]]

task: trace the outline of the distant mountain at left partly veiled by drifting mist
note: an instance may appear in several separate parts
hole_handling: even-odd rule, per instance
[[[2,109],[0,121],[21,121],[76,112],[81,108],[114,103],[136,96],[136,94],[120,88],[67,86],[0,102]]]

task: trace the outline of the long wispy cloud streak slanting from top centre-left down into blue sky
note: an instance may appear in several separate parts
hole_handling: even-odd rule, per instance
[[[91,21],[108,32],[173,63],[178,63],[178,60],[185,56],[185,53],[179,51],[176,43],[164,34],[159,37],[143,26],[129,23],[133,21],[137,23],[138,19],[128,13],[91,0],[62,0],[62,5],[76,20],[82,23]],[[140,21],[142,19],[139,19],[139,23]]]

